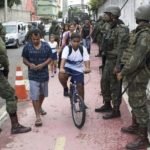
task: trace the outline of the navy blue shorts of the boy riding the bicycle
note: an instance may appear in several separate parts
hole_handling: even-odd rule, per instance
[[[76,81],[76,83],[84,84],[84,74],[76,70],[65,67],[66,72],[71,76],[71,81]]]

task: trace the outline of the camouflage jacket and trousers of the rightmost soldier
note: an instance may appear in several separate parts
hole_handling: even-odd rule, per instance
[[[150,52],[148,42],[150,42],[150,27],[139,26],[136,29],[136,36],[132,45],[134,52],[130,61],[126,63],[121,71],[122,76],[127,76],[128,79],[132,79],[132,76],[137,73],[134,80],[132,80],[128,94],[132,111],[139,125],[143,127],[146,127],[148,123],[146,89],[149,81],[149,72],[144,61],[148,52]]]

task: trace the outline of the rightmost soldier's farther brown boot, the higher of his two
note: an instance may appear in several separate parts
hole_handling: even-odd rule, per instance
[[[139,124],[137,123],[135,116],[132,115],[132,124],[128,127],[122,127],[121,132],[129,133],[129,134],[137,134],[138,129],[139,129]]]

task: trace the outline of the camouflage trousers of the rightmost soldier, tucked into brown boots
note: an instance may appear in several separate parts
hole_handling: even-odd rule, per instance
[[[149,119],[146,95],[147,84],[148,80],[139,82],[135,79],[128,89],[129,104],[132,108],[132,113],[141,127],[147,127]]]

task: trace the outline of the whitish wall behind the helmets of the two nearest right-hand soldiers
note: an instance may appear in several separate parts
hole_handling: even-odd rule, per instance
[[[99,8],[98,15],[100,16],[104,9],[110,5],[116,5],[121,8],[125,1],[126,0],[107,0],[107,2]],[[125,22],[126,25],[129,26],[131,30],[136,27],[134,12],[137,7],[144,4],[150,4],[150,0],[128,0],[127,4],[122,9],[120,18]]]

